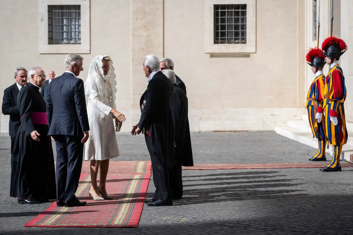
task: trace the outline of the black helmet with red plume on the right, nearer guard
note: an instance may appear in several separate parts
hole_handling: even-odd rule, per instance
[[[328,37],[324,40],[321,46],[321,53],[331,59],[339,59],[343,53],[347,50],[345,41],[336,37]]]

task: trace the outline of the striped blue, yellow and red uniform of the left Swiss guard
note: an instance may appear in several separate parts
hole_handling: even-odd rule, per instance
[[[316,113],[323,112],[323,94],[325,86],[325,75],[319,72],[319,75],[313,80],[310,85],[309,91],[306,95],[306,109],[309,117],[309,124],[313,137],[318,139],[319,149],[314,158],[325,158],[325,146],[326,146],[326,135],[325,135],[325,118],[322,118],[321,123],[316,120]]]

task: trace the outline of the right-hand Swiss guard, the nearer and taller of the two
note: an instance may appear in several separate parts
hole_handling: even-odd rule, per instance
[[[343,105],[347,95],[345,77],[338,64],[341,55],[347,50],[347,45],[340,38],[329,37],[322,43],[322,50],[325,62],[330,66],[325,79],[323,109],[325,112],[325,134],[327,141],[333,146],[333,159],[329,165],[320,168],[320,171],[333,172],[341,171],[341,150],[348,138]]]

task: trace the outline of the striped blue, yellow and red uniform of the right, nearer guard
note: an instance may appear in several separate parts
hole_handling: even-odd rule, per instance
[[[345,77],[343,76],[342,68],[339,64],[335,64],[326,76],[324,87],[325,134],[327,141],[333,145],[333,159],[327,167],[341,167],[341,150],[348,139],[345,107],[343,104],[346,96]],[[330,116],[337,118],[337,125],[331,123]]]

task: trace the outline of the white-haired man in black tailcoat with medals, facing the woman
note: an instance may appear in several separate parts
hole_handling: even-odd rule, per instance
[[[173,166],[174,128],[170,112],[173,85],[160,71],[157,56],[146,56],[143,70],[148,78],[148,86],[140,99],[140,121],[133,125],[131,134],[143,131],[151,156],[156,191],[154,197],[145,200],[145,203],[148,206],[169,206],[173,205],[168,173],[168,168]]]

